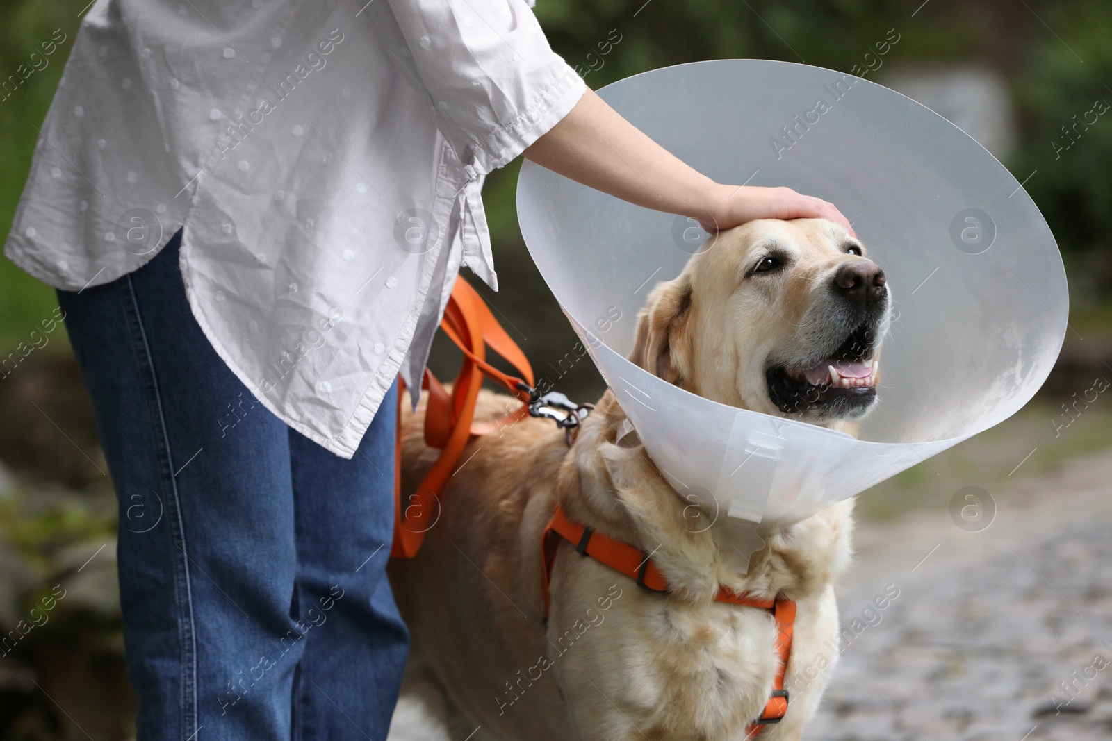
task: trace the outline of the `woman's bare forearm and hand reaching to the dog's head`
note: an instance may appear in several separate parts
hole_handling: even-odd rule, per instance
[[[523,156],[585,186],[698,219],[708,232],[754,219],[815,217],[853,228],[824,200],[791,188],[716,183],[657,144],[588,89]]]

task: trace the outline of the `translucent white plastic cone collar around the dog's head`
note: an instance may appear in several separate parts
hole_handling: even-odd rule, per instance
[[[1069,311],[1054,238],[1015,178],[930,109],[764,60],[681,64],[598,92],[717,182],[835,203],[892,289],[880,401],[857,439],[703,399],[625,356],[648,292],[705,233],[523,166],[529,252],[653,461],[704,509],[803,519],[1003,421],[1046,379]]]

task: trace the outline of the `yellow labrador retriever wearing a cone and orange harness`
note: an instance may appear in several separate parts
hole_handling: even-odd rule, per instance
[[[754,221],[655,288],[631,360],[725,404],[847,429],[875,403],[890,303],[884,273],[841,227]],[[476,420],[515,404],[483,392]],[[438,454],[424,407],[404,414],[404,497]],[[797,605],[790,705],[755,738],[798,739],[834,660],[853,501],[764,527],[746,572],[721,528],[691,527],[691,502],[644,449],[616,441],[624,419],[607,391],[570,448],[534,418],[471,441],[420,553],[390,565],[413,634],[406,691],[459,740],[741,740],[773,687],[776,629],[766,610],[716,602],[725,585]],[[557,502],[651,552],[671,593],[562,541],[546,620],[540,541]]]

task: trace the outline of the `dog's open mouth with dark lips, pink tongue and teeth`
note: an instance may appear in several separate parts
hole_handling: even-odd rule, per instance
[[[866,322],[830,356],[765,371],[768,398],[785,414],[812,412],[824,419],[864,414],[876,401],[876,333]]]

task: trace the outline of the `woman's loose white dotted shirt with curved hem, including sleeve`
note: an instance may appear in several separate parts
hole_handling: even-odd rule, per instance
[[[585,89],[524,0],[97,0],[6,254],[80,290],[183,226],[212,347],[350,458],[459,266],[497,289],[484,177]]]

